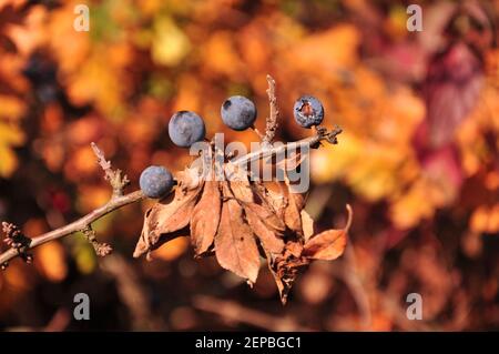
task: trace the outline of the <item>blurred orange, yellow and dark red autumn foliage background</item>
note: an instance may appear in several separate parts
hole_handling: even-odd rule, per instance
[[[35,236],[105,203],[91,141],[130,190],[149,164],[183,169],[176,110],[198,112],[208,136],[254,141],[220,107],[252,98],[263,129],[267,73],[279,140],[310,134],[292,119],[304,93],[344,129],[313,153],[307,210],[319,229],[355,212],[345,255],[312,264],[282,306],[265,266],[251,290],[186,239],[132,259],[150,202],[130,205],[94,224],[112,255],[77,234],[12,261],[0,328],[499,330],[499,1],[415,1],[421,32],[407,31],[410,2],[0,0],[0,220]],[[73,30],[78,3],[89,32]],[[72,317],[79,292],[91,321]],[[422,321],[406,317],[414,292]]]

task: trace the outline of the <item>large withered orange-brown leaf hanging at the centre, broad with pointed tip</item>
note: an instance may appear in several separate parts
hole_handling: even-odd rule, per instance
[[[223,183],[224,202],[218,231],[215,235],[215,255],[220,265],[255,283],[259,270],[259,254],[252,229],[244,220],[243,208]]]

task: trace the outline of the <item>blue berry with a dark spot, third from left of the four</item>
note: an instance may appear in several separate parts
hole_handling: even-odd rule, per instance
[[[253,127],[256,119],[256,107],[245,97],[233,95],[225,100],[220,113],[225,125],[242,131]]]

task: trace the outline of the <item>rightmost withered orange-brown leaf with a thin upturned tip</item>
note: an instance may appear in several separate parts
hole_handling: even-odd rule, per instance
[[[345,251],[348,229],[352,224],[352,209],[347,205],[348,221],[343,230],[327,230],[305,243],[303,255],[308,259],[333,261]]]

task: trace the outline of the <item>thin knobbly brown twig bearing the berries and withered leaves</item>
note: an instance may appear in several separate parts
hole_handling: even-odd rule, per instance
[[[275,97],[275,81],[271,75],[267,75],[268,81],[268,100],[271,105],[269,117],[266,119],[266,129],[265,135],[262,138],[264,142],[264,146],[259,151],[255,151],[248,153],[244,156],[241,156],[233,161],[235,164],[246,165],[247,163],[258,160],[265,159],[268,156],[273,156],[288,150],[296,151],[297,149],[308,146],[308,148],[318,148],[322,141],[327,141],[332,144],[336,144],[336,136],[342,133],[342,129],[336,127],[332,131],[327,131],[325,128],[320,128],[316,130],[316,134],[310,138],[305,138],[299,141],[281,144],[278,146],[273,146],[272,141],[275,138],[275,132],[277,129],[277,118],[278,118],[278,109],[277,101]],[[91,148],[98,158],[98,163],[101,165],[104,171],[105,180],[109,181],[113,189],[113,194],[111,199],[104,205],[93,210],[89,214],[80,218],[79,220],[64,225],[62,227],[52,230],[44,234],[41,234],[37,237],[29,239],[17,229],[16,225],[3,223],[3,232],[6,233],[4,242],[10,246],[7,251],[0,254],[0,265],[2,269],[8,266],[8,262],[17,256],[21,256],[24,261],[30,262],[32,256],[27,253],[28,250],[34,249],[41,244],[44,244],[49,241],[62,239],[64,236],[71,235],[75,232],[83,232],[86,239],[92,243],[95,249],[95,252],[99,255],[106,255],[111,252],[111,246],[109,244],[101,244],[95,239],[95,233],[92,230],[91,225],[96,220],[102,216],[111,213],[114,210],[129,205],[131,203],[139,202],[143,200],[145,196],[139,190],[129,194],[124,194],[124,189],[130,184],[126,175],[122,173],[121,170],[113,170],[111,166],[111,162],[105,160],[104,153],[99,149],[95,143],[91,143]],[[18,230],[19,233],[17,233]],[[22,237],[21,237],[22,235]]]

